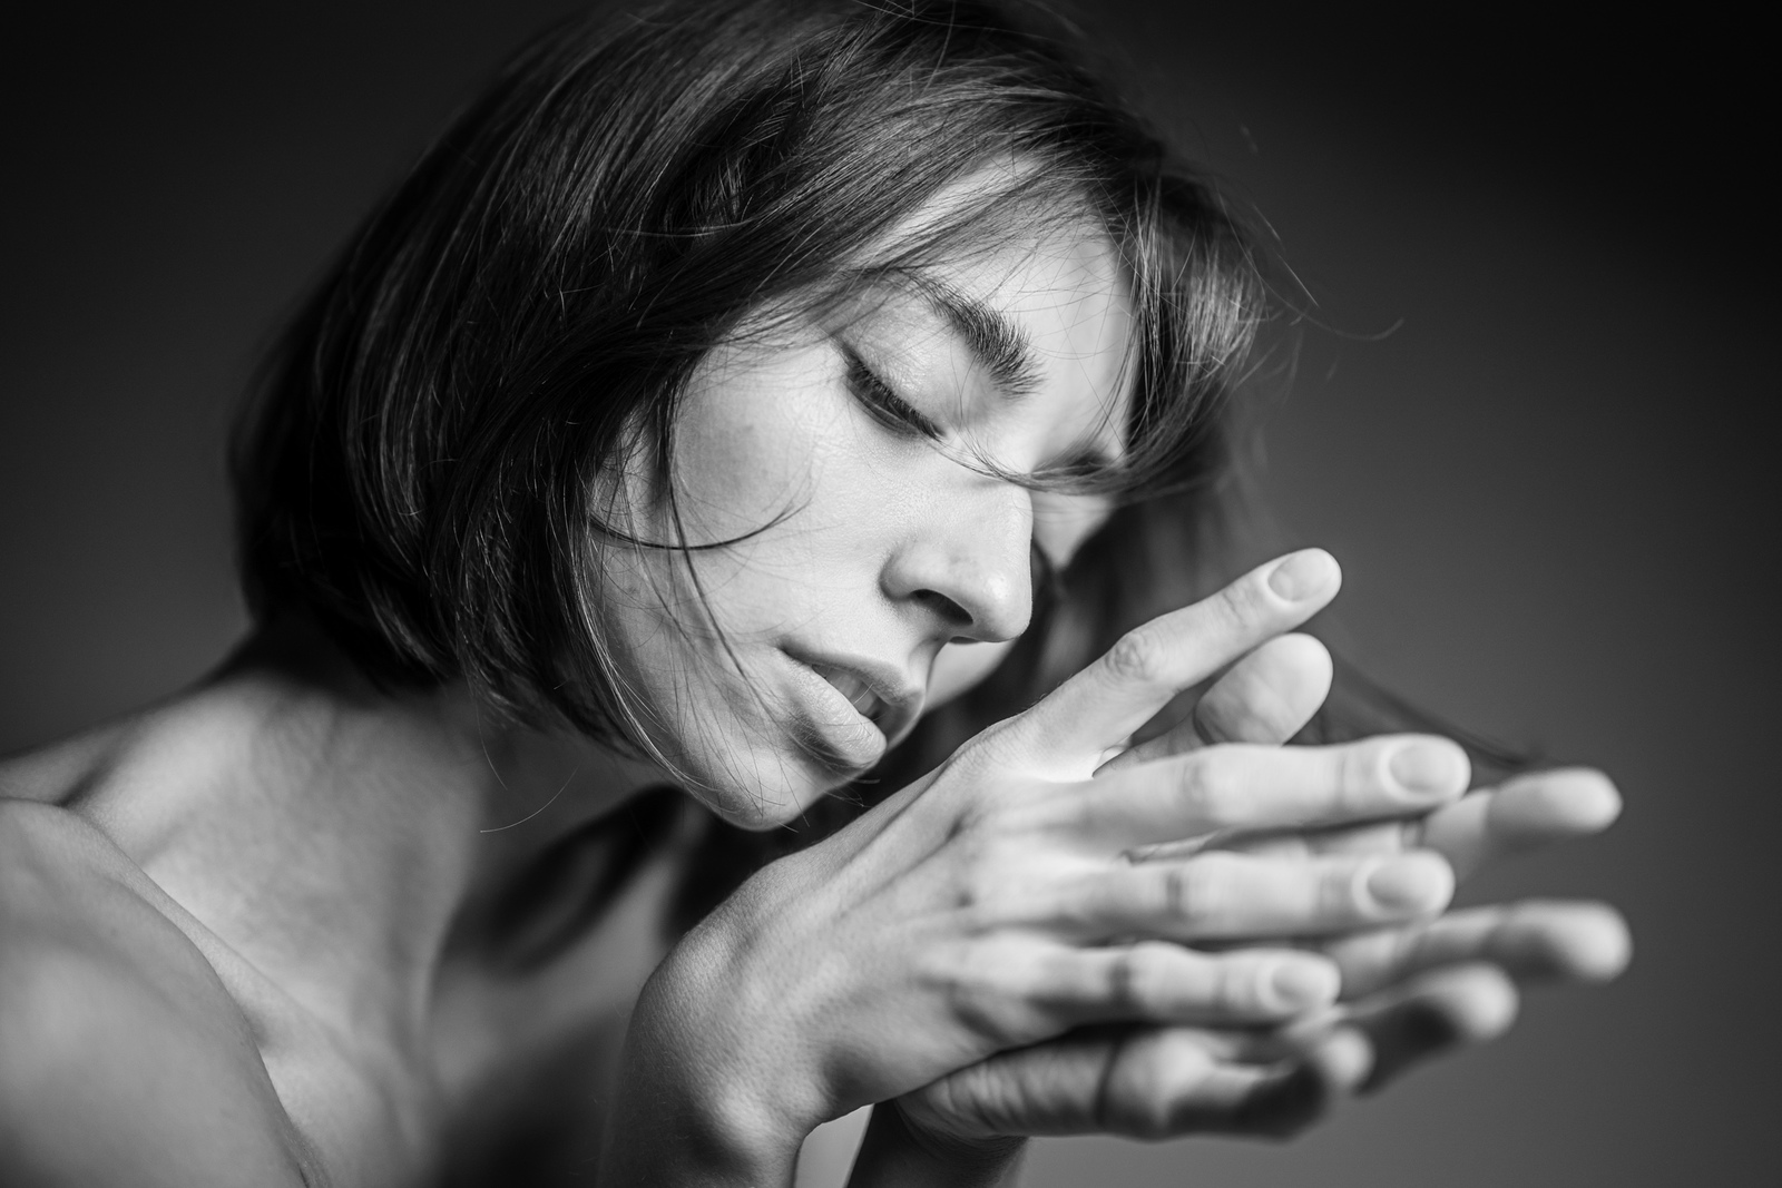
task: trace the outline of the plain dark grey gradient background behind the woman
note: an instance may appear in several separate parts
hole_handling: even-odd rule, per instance
[[[269,330],[560,0],[9,18],[0,750],[191,680],[242,629],[221,440]],[[1755,34],[1103,4],[1317,297],[1269,413],[1336,638],[1627,796],[1472,898],[1618,903],[1636,960],[1287,1145],[1041,1143],[1041,1184],[1782,1183],[1782,655]],[[1477,18],[1483,21],[1483,18]],[[1385,333],[1392,330],[1392,333]]]

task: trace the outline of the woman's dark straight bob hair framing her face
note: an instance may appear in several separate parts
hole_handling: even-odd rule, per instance
[[[513,720],[659,753],[602,627],[601,556],[686,543],[606,522],[602,472],[642,449],[668,476],[690,374],[748,319],[1046,217],[1105,232],[1130,280],[1130,447],[1119,472],[1010,477],[1121,509],[1069,575],[1039,575],[1051,611],[968,700],[1009,712],[1180,604],[1265,287],[1214,191],[1078,41],[985,0],[668,0],[547,32],[269,360],[232,460],[255,616],[312,616],[385,688],[465,679]],[[868,251],[996,162],[1016,167],[982,207]],[[937,745],[969,730],[959,712]]]

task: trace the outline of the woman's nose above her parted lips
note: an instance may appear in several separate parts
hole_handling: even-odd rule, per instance
[[[880,579],[896,602],[928,611],[952,638],[1014,639],[1034,614],[1034,508],[1009,483],[936,506],[891,552]]]

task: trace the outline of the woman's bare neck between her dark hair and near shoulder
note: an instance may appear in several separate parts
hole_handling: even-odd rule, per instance
[[[312,1013],[399,1042],[460,908],[659,782],[456,688],[378,691],[301,623],[91,752],[68,807]]]

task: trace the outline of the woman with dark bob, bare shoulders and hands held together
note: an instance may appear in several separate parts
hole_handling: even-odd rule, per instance
[[[1600,777],[1278,746],[1335,563],[1201,598],[1262,278],[1028,21],[665,5],[458,119],[244,427],[253,636],[0,769],[9,1183],[784,1183],[868,1103],[855,1183],[996,1183],[1620,967],[1440,915]]]

